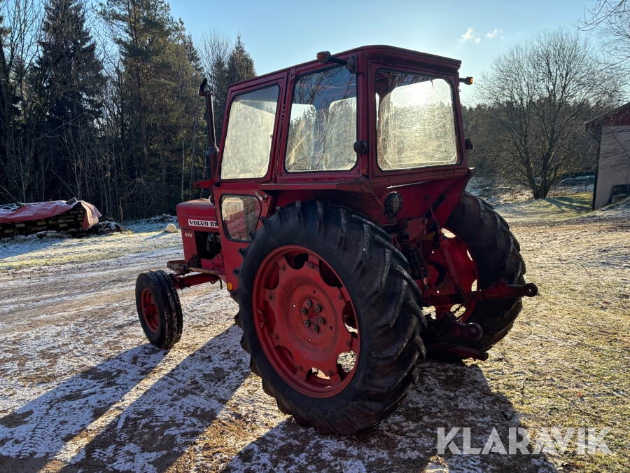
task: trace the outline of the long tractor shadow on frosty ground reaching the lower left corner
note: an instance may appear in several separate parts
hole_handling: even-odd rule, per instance
[[[164,472],[249,375],[239,338],[231,326],[181,360],[141,345],[73,376],[0,418],[0,471]]]

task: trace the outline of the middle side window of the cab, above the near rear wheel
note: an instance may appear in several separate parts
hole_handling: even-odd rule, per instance
[[[350,170],[356,164],[356,74],[333,67],[297,78],[287,172]]]

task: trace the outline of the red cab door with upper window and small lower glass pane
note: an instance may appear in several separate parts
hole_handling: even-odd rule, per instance
[[[283,120],[286,72],[230,88],[226,126],[213,185],[225,277],[230,292],[259,217],[269,217],[273,198],[261,190],[274,179]]]

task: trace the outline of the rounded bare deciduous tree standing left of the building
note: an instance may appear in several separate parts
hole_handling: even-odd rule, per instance
[[[496,137],[496,170],[545,198],[554,182],[579,172],[584,121],[619,100],[619,74],[603,70],[577,34],[542,32],[494,60],[479,81],[479,99]]]

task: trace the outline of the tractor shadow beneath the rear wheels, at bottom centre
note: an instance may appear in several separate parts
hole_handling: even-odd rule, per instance
[[[242,448],[223,471],[556,472],[545,455],[454,455],[448,448],[437,455],[439,427],[446,433],[470,427],[470,445],[477,448],[496,428],[507,451],[509,428],[524,426],[510,400],[492,391],[476,364],[427,361],[419,369],[420,381],[409,389],[407,401],[377,427],[332,437],[290,418]],[[463,450],[462,430],[454,443]]]

